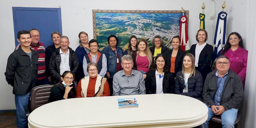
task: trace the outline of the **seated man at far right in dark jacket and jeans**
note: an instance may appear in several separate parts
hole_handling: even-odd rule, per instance
[[[208,106],[208,119],[200,127],[208,127],[214,115],[221,115],[222,127],[234,127],[238,109],[242,105],[243,84],[230,67],[228,57],[220,55],[217,70],[209,73],[203,88],[203,98]]]

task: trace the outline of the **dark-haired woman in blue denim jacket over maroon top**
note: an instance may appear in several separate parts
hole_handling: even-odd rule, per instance
[[[123,49],[116,46],[117,42],[118,38],[115,35],[110,35],[108,37],[109,46],[101,51],[107,58],[108,69],[106,77],[108,78],[110,95],[113,95],[113,76],[122,70],[121,58],[123,56]]]

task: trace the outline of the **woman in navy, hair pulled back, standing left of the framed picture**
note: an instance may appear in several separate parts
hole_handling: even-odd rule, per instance
[[[78,57],[79,66],[76,73],[77,82],[84,77],[83,73],[83,57],[88,54],[91,50],[88,43],[88,34],[86,32],[80,32],[79,37],[79,46],[76,48],[76,53]]]

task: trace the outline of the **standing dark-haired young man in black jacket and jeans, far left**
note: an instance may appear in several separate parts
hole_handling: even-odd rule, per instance
[[[38,53],[30,48],[31,35],[28,31],[19,31],[17,35],[21,48],[8,57],[4,74],[8,84],[13,87],[19,128],[28,127],[25,108],[28,108],[30,91],[37,83]]]

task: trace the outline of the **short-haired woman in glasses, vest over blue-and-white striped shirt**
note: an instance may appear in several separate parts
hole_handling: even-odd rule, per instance
[[[89,47],[91,51],[87,54],[84,55],[83,57],[83,73],[84,76],[88,76],[87,72],[87,65],[91,62],[97,63],[98,65],[98,72],[101,77],[104,77],[107,72],[107,59],[105,54],[101,54],[98,49],[99,49],[99,44],[97,40],[91,39],[89,41]]]

